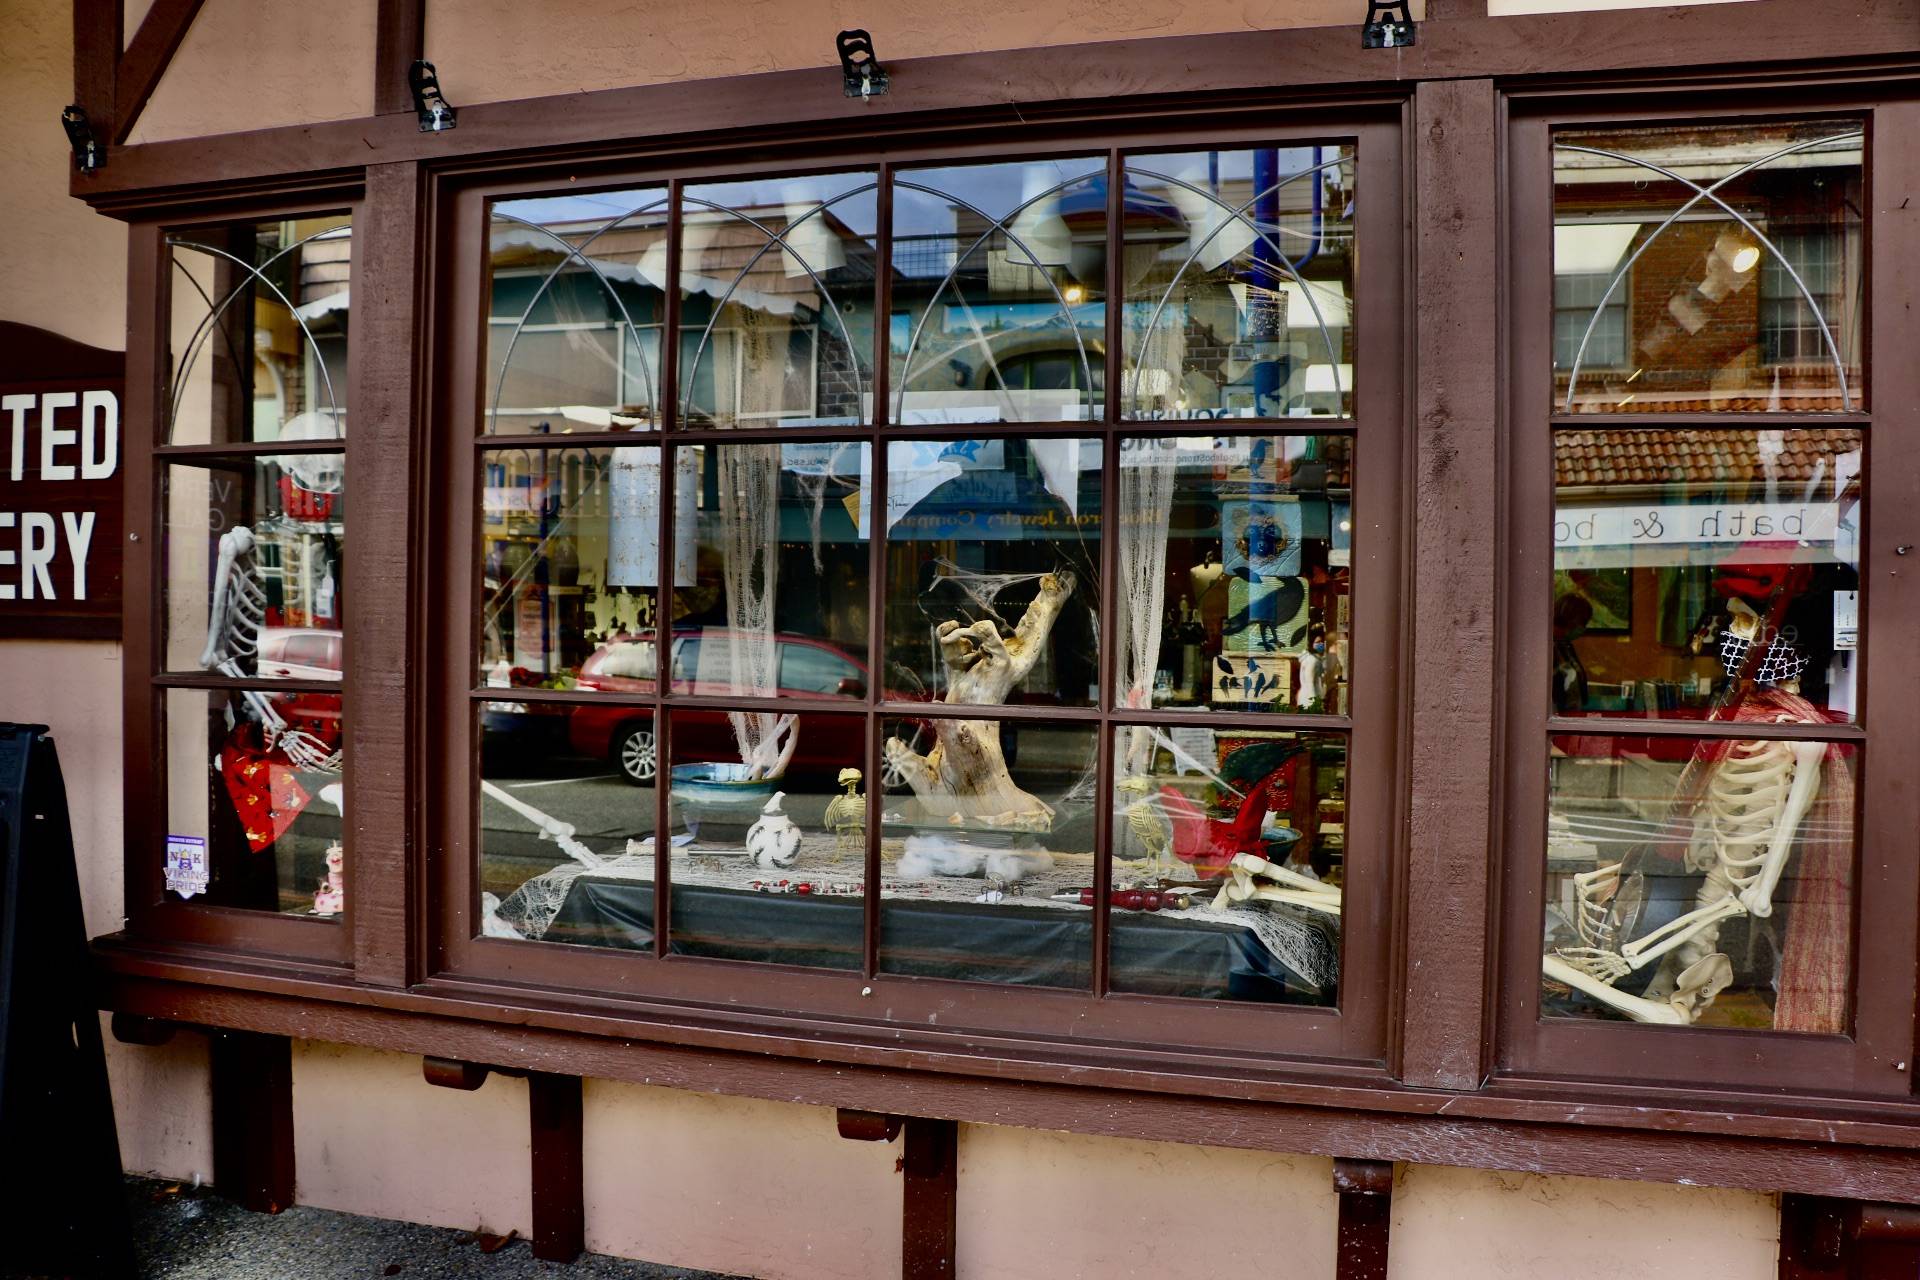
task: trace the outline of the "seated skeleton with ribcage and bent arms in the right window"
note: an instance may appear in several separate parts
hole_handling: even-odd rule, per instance
[[[1728,674],[1738,677],[1761,620],[1740,601],[1732,612],[1720,654]],[[1761,672],[1764,683],[1793,691],[1803,668],[1805,658],[1793,652],[1791,637],[1774,637]],[[1776,722],[1793,723],[1793,718],[1778,716]],[[1824,756],[1824,743],[1728,743],[1713,766],[1686,852],[1688,869],[1705,873],[1693,910],[1632,936],[1645,900],[1644,877],[1622,875],[1622,864],[1576,875],[1572,925],[1580,944],[1542,956],[1546,977],[1634,1021],[1670,1027],[1695,1021],[1734,981],[1734,963],[1718,950],[1720,925],[1741,915],[1772,915],[1774,890],[1799,825],[1820,791]],[[1655,961],[1661,967],[1645,996],[1615,986]]]

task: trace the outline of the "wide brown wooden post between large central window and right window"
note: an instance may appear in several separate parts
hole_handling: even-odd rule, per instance
[[[1492,81],[1413,94],[1415,533],[1400,1077],[1478,1088],[1496,758],[1500,102]]]

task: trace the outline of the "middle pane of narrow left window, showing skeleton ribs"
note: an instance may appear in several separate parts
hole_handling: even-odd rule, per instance
[[[300,453],[163,468],[165,670],[340,679],[342,462]]]

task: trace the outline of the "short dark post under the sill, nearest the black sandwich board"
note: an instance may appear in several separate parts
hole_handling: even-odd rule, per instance
[[[294,1203],[294,1042],[252,1031],[209,1038],[213,1190],[255,1213]]]

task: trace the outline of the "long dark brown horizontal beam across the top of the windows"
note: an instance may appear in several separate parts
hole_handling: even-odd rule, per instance
[[[893,92],[849,104],[839,67],[712,81],[643,84],[524,102],[459,104],[461,127],[422,134],[405,113],[290,125],[115,148],[75,194],[102,207],[115,194],[188,184],[267,182],[288,175],[357,171],[401,159],[480,157],[541,148],[582,152],[649,146],[684,150],[691,138],[755,130],[756,142],[818,132],[847,142],[862,129],[899,129],[895,117],[973,113],[975,123],[1046,123],[1071,104],[1139,100],[1177,115],[1198,90],[1213,96],[1284,90],[1304,98],[1346,86],[1413,81],[1640,73],[1699,67],[1711,83],[1736,69],[1830,59],[1872,59],[1910,69],[1920,54],[1920,0],[1749,0],[1740,21],[1722,6],[1603,10],[1425,23],[1419,44],[1363,50],[1356,25],[1068,48],[995,50],[889,61]],[[1164,98],[1165,102],[1156,102]],[[889,119],[893,121],[889,125]],[[945,121],[931,121],[945,127]]]

